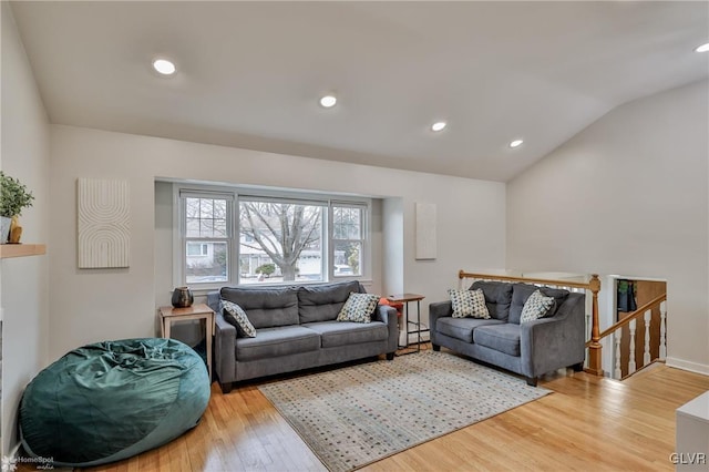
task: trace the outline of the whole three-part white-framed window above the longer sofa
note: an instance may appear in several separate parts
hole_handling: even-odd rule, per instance
[[[327,281],[368,275],[369,202],[320,194],[237,194],[176,184],[175,284]],[[305,195],[305,197],[304,197]],[[177,254],[179,248],[179,254]]]

